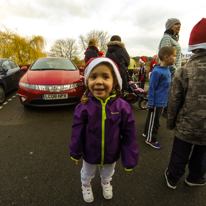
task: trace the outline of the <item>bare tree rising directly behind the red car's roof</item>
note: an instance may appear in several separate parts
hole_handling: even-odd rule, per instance
[[[58,39],[51,47],[49,56],[65,57],[74,60],[79,55],[75,39]]]

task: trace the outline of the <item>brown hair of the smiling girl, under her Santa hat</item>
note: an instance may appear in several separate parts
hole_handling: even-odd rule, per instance
[[[110,92],[110,95],[116,94],[117,97],[120,97],[122,95],[122,92],[121,92],[120,86],[118,84],[118,80],[117,80],[117,77],[115,75],[115,72],[114,72],[114,69],[113,69],[112,65],[109,62],[101,62],[101,63],[99,63],[97,65],[105,65],[105,66],[109,67],[109,69],[112,72],[113,83],[116,84],[116,86],[112,88],[112,91]],[[88,76],[88,78],[89,78],[89,76]],[[81,98],[81,103],[82,104],[86,104],[88,102],[88,100],[89,100],[88,94],[89,94],[90,90],[89,90],[89,87],[88,87],[88,79],[87,79],[86,82],[87,82],[86,83],[86,91],[85,91],[85,93],[83,94],[83,96]]]

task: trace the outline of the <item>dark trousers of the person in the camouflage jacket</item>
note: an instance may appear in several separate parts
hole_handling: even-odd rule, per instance
[[[177,137],[174,138],[172,154],[168,167],[168,178],[177,183],[184,175],[185,167],[188,164],[189,175],[188,178],[197,180],[203,178],[204,171],[204,157],[206,155],[206,146],[193,145],[191,143],[182,141]]]

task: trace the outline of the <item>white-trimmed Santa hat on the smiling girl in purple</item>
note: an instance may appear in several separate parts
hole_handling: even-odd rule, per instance
[[[102,62],[109,62],[112,65],[114,73],[117,77],[117,82],[120,86],[120,89],[122,89],[122,78],[120,76],[119,68],[111,59],[109,59],[107,57],[91,58],[87,62],[85,69],[84,69],[84,83],[85,83],[85,85],[86,85],[87,78],[89,77],[89,74],[91,73],[92,69],[94,69],[94,67],[96,67],[98,64],[100,64]]]

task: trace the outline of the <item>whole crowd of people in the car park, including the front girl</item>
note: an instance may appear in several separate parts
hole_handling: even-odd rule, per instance
[[[148,115],[145,143],[161,149],[157,141],[159,119],[163,108],[167,128],[174,130],[174,143],[168,168],[167,186],[175,189],[188,164],[185,183],[204,186],[206,179],[206,18],[191,31],[189,50],[194,53],[181,67],[181,47],[178,43],[181,23],[168,19],[159,43],[160,64],[153,57],[150,64]],[[106,57],[98,50],[98,41],[91,39],[85,52],[86,92],[74,112],[69,145],[72,160],[83,158],[81,182],[83,198],[93,202],[91,181],[97,168],[105,199],[113,197],[110,184],[116,161],[121,157],[126,171],[138,163],[135,120],[130,105],[122,97],[127,94],[135,62],[128,55],[121,37],[114,35],[107,44]],[[144,89],[146,59],[139,60],[140,87]],[[128,68],[129,67],[129,68]],[[169,100],[168,100],[169,99]],[[163,112],[163,113],[164,113]]]

